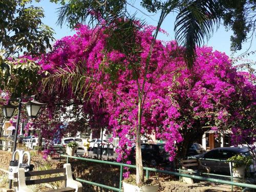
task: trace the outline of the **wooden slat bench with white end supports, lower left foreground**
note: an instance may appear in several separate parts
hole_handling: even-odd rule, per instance
[[[26,177],[33,177],[33,176],[41,176],[41,175],[51,175],[51,174],[59,174],[64,173],[63,176],[58,177],[50,177],[44,179],[33,179],[33,180],[26,180]],[[24,168],[18,169],[18,174],[16,176],[18,178],[18,182],[14,182],[14,186],[17,186],[17,192],[32,192],[31,189],[27,187],[27,185],[35,185],[41,183],[50,183],[55,181],[66,181],[66,186],[64,188],[59,189],[51,189],[47,192],[54,191],[54,192],[81,192],[82,191],[82,184],[78,181],[75,181],[72,177],[72,170],[71,165],[64,164],[64,168],[59,169],[50,169],[50,170],[37,170],[34,172],[25,172]]]

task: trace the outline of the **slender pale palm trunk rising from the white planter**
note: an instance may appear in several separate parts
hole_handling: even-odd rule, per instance
[[[139,102],[138,102],[138,125],[136,130],[136,183],[137,185],[141,185],[144,177],[143,177],[143,165],[142,165],[142,156],[141,156],[141,95],[139,93]]]

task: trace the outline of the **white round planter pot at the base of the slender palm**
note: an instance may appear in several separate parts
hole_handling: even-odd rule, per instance
[[[157,192],[158,188],[159,184],[139,187],[136,185],[123,182],[123,192]]]

